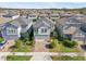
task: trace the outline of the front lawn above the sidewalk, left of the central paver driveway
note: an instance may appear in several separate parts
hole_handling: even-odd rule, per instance
[[[32,52],[34,48],[34,41],[32,44],[29,44],[30,41],[27,41],[28,44],[25,44],[25,42],[17,40],[15,41],[15,48],[13,49],[13,52]]]

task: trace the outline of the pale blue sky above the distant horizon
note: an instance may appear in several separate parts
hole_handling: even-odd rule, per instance
[[[14,9],[61,9],[86,8],[86,2],[0,2],[0,8]]]

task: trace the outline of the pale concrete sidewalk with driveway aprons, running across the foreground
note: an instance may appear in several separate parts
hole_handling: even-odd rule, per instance
[[[85,53],[58,53],[58,52],[0,52],[0,61],[5,61],[7,55],[32,55],[32,61],[51,61],[51,55],[69,55],[69,56],[85,56]]]

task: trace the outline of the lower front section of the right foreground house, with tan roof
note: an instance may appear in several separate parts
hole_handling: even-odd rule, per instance
[[[67,29],[63,30],[65,38],[69,38],[74,41],[85,41],[86,33],[82,31],[79,28],[71,26]]]

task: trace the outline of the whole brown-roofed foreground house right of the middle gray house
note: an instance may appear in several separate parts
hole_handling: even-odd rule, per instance
[[[60,30],[61,36],[64,38],[84,41],[85,33],[81,30],[81,25],[82,22],[75,20],[74,17],[61,18],[57,23],[57,28]]]

